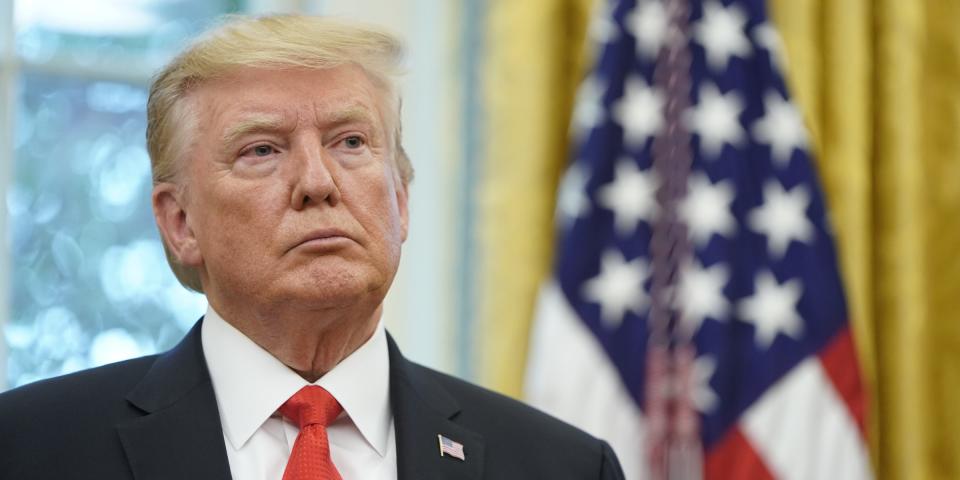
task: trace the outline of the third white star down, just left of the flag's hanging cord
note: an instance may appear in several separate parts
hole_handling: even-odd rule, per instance
[[[617,162],[613,181],[597,191],[597,202],[613,211],[617,233],[629,235],[640,220],[653,221],[659,183],[652,169],[640,170],[631,158]]]

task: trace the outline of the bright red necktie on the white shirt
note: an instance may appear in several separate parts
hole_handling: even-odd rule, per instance
[[[342,410],[330,392],[316,385],[301,388],[280,407],[280,413],[300,427],[283,480],[342,480],[327,440],[327,426]]]

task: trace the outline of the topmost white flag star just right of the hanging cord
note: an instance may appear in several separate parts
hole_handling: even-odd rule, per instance
[[[714,71],[726,70],[730,57],[746,57],[750,41],[744,32],[747,16],[736,5],[724,8],[720,2],[703,5],[703,18],[694,27],[693,36],[707,52],[707,64]]]

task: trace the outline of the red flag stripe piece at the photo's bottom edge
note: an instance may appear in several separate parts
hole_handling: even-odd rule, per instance
[[[739,427],[727,432],[707,452],[704,475],[707,480],[773,480],[773,474]]]

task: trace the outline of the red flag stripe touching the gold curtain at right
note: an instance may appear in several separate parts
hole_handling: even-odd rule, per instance
[[[820,351],[820,363],[823,364],[827,376],[833,383],[843,403],[850,410],[850,415],[857,423],[860,434],[866,438],[867,393],[860,381],[860,364],[857,361],[857,351],[850,335],[850,328],[846,327]]]

